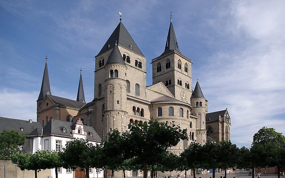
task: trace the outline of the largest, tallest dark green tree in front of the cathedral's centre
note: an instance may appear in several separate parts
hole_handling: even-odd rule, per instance
[[[125,137],[126,157],[139,157],[143,160],[144,178],[147,177],[148,161],[157,161],[155,157],[167,148],[176,146],[180,140],[188,140],[184,135],[187,129],[181,129],[175,122],[149,122],[129,124],[129,131],[123,133]]]

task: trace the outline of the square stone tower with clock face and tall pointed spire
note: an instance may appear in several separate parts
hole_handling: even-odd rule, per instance
[[[163,82],[176,99],[190,103],[192,61],[179,51],[172,19],[170,19],[164,52],[151,63],[152,84]]]

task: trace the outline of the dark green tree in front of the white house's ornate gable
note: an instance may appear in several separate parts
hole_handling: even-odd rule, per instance
[[[89,167],[92,164],[90,150],[93,147],[91,143],[83,139],[74,139],[63,148],[60,157],[63,161],[63,167],[76,170],[77,167],[85,169],[85,177],[89,178]]]

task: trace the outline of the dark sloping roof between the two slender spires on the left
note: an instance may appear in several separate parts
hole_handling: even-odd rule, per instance
[[[76,109],[82,108],[86,103],[72,99],[62,98],[54,95],[47,95],[56,105],[68,106]]]

